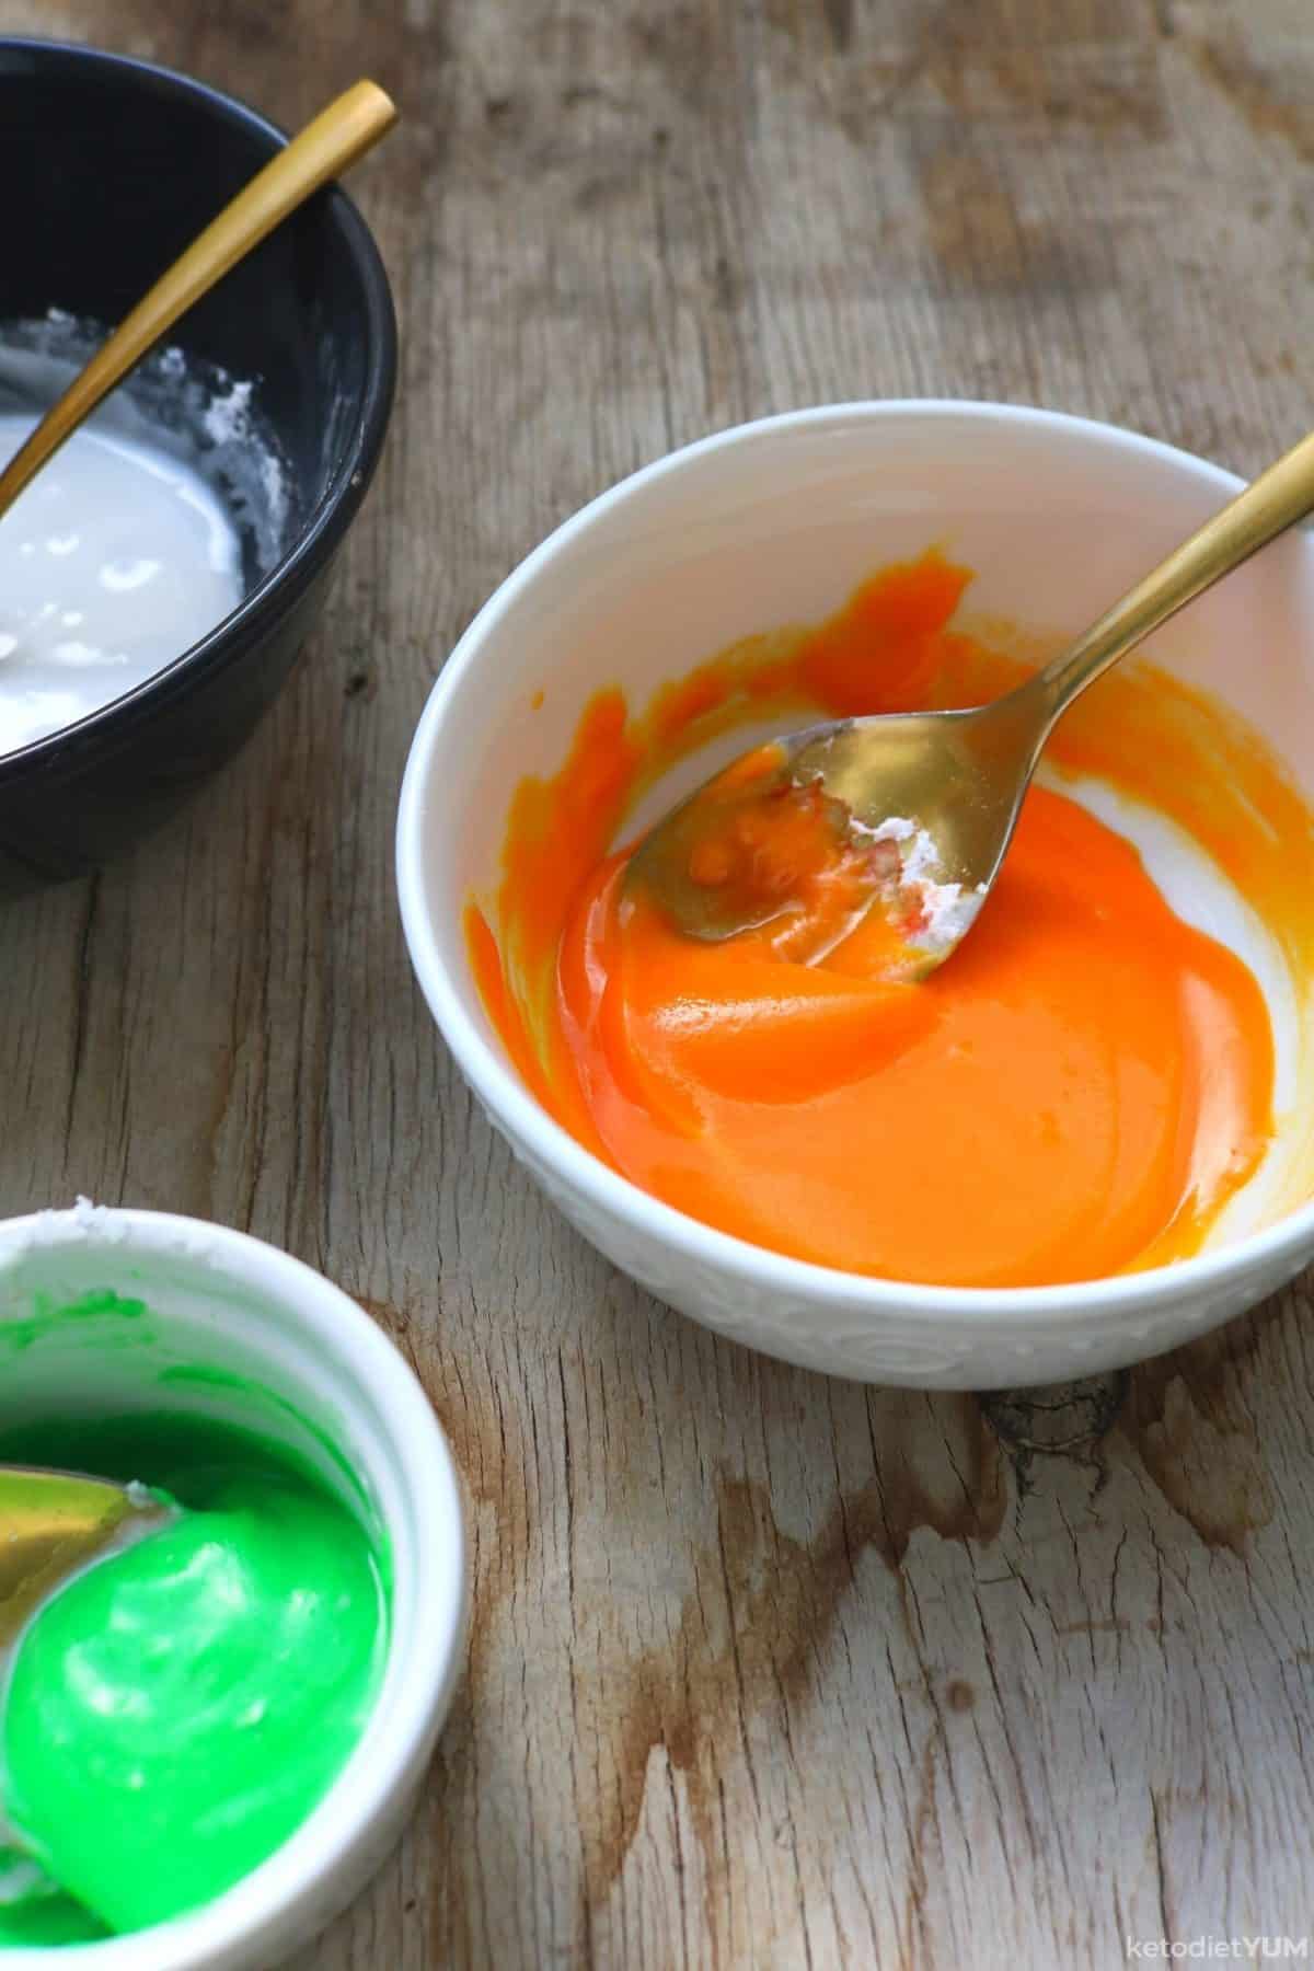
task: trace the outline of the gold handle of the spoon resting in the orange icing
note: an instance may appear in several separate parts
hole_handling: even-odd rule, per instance
[[[1042,698],[1048,727],[1078,692],[1143,637],[1176,615],[1184,603],[1214,587],[1277,534],[1314,509],[1314,434],[1302,438],[1212,520],[1115,601],[1030,682]],[[1028,690],[1028,686],[1022,686]]]

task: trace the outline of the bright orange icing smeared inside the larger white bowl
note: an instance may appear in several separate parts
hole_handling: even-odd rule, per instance
[[[638,715],[599,692],[559,773],[512,796],[496,930],[467,909],[471,964],[544,1108],[725,1232],[942,1285],[1160,1263],[1198,1248],[1271,1139],[1271,1023],[1241,960],[1074,800],[1032,788],[975,928],[918,986],[881,976],[881,924],[798,964],[770,928],[682,938],[623,887],[626,812],[709,737],[1015,682],[1017,658],[950,627],[967,581],[928,554],[810,631],[699,664]],[[1251,733],[1143,666],[1103,680],[1052,757],[1188,828],[1308,968],[1314,830]],[[790,804],[768,881],[812,867],[810,826]],[[725,842],[705,853],[707,879],[735,879]]]

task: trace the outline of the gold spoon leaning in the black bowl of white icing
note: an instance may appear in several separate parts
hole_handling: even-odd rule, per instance
[[[396,122],[396,114],[394,102],[382,89],[374,83],[357,83],[307,122],[262,171],[256,171],[246,189],[211,219],[205,233],[120,321],[0,471],[0,516],[165,329],[171,329],[193,302],[209,294],[229,268],[282,225],[288,213],[378,144]]]

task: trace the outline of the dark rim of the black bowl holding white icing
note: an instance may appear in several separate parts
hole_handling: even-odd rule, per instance
[[[122,55],[102,47],[89,47],[81,41],[0,34],[0,69],[6,55],[28,55],[51,71],[104,69],[110,75],[154,89],[173,101],[187,102],[201,118],[213,118],[250,134],[258,150],[264,152],[264,162],[288,144],[288,132],[248,102],[193,75],[146,61],[140,55]],[[162,670],[124,692],[122,698],[112,698],[106,706],[97,706],[95,712],[75,719],[71,725],[61,725],[53,733],[43,733],[28,745],[2,753],[0,784],[24,779],[26,775],[77,771],[87,751],[95,749],[97,757],[104,757],[106,749],[112,753],[120,743],[130,743],[144,710],[154,712],[156,706],[164,708],[181,692],[191,690],[199,674],[221,666],[232,654],[236,643],[248,645],[268,637],[331,560],[355,520],[378,465],[396,394],[396,309],[382,254],[351,195],[335,181],[323,193],[317,193],[317,197],[327,201],[325,209],[341,235],[341,250],[351,260],[361,282],[366,349],[364,388],[353,426],[343,442],[343,453],[323,495],[301,522],[286,554],[280,556],[276,566],[260,578],[254,589],[223,621],[199,637],[197,643],[179,650]],[[183,323],[185,319],[183,315]],[[183,323],[179,323],[179,329]]]

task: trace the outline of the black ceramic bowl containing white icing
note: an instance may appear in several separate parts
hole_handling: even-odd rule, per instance
[[[165,69],[0,37],[0,345],[55,307],[114,325],[286,142],[254,110]],[[325,597],[378,461],[396,378],[388,278],[329,189],[167,337],[252,380],[292,495],[276,550],[244,542],[244,601],[100,712],[0,755],[0,887],[77,875],[156,826],[246,739]],[[132,388],[132,386],[128,386]]]

